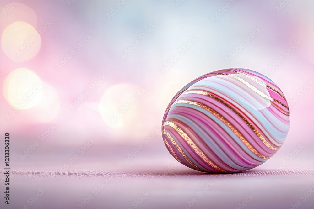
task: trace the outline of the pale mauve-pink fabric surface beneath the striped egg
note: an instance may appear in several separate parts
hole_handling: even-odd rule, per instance
[[[297,163],[291,162],[290,165]],[[275,169],[276,163],[278,169]],[[305,201],[301,198],[312,187],[314,191],[313,165],[295,166],[295,169],[288,165],[280,169],[280,160],[274,160],[242,173],[206,174],[171,160],[166,165],[147,166],[146,169],[142,167],[143,162],[133,163],[124,170],[78,164],[86,169],[69,169],[65,173],[49,167],[11,170],[11,199],[6,208],[23,208],[24,205],[34,209],[80,208],[78,204],[89,195],[92,199],[82,208],[181,209],[189,208],[193,198],[191,208],[195,209],[242,208],[239,205],[242,203],[246,204],[243,208],[289,209],[297,201],[301,203],[299,208],[311,209],[314,204],[314,192]],[[104,180],[107,184],[95,195],[93,189]],[[208,183],[211,186],[207,186]],[[29,199],[41,189],[43,194],[30,205]],[[144,193],[147,197],[137,205],[134,201],[141,201]],[[247,199],[248,196],[252,200]],[[245,203],[246,200],[250,201]]]

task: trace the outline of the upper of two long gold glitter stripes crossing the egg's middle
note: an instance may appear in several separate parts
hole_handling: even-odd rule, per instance
[[[244,118],[240,112],[236,111],[233,107],[231,107],[229,104],[227,104],[225,101],[215,97],[214,95],[205,92],[205,91],[188,91],[188,92],[184,92],[182,94],[202,94],[205,96],[209,96],[214,98],[215,100],[217,100],[218,102],[221,102],[222,104],[224,104],[225,106],[229,107],[234,113],[236,113],[242,120],[244,120],[244,122],[254,131],[254,133],[257,135],[258,138],[261,139],[261,141],[271,150],[278,150],[278,148],[273,147],[271,144],[268,143],[268,141],[263,137],[263,135],[261,133],[258,132],[258,130],[253,127],[253,125],[246,119]],[[172,104],[173,105],[173,104]],[[172,106],[171,105],[171,106]]]

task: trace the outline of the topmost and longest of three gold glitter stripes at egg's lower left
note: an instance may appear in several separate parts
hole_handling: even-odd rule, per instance
[[[180,134],[180,136],[188,143],[190,144],[190,146],[192,147],[192,149],[210,166],[212,166],[214,169],[225,173],[226,171],[222,170],[221,168],[219,168],[217,165],[215,165],[212,161],[210,161],[210,159],[208,159],[208,157],[196,146],[196,144],[194,144],[194,142],[191,140],[191,138],[179,127],[177,126],[175,123],[172,123],[170,121],[166,121],[163,124],[164,126],[170,126],[173,129],[176,130],[177,133]]]

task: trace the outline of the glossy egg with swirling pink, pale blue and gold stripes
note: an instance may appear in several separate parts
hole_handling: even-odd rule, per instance
[[[162,136],[183,165],[233,173],[271,158],[284,143],[289,124],[288,102],[272,80],[232,68],[184,86],[165,111]]]

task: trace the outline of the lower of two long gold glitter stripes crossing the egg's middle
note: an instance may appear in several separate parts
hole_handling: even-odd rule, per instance
[[[232,131],[233,133],[235,133],[237,135],[237,137],[239,137],[241,139],[241,141],[245,144],[245,146],[247,148],[249,148],[252,153],[256,154],[258,157],[262,158],[262,159],[269,159],[270,157],[264,156],[262,154],[260,154],[259,152],[257,152],[250,143],[248,143],[248,141],[246,141],[242,135],[233,127],[231,126],[231,124],[222,116],[219,115],[218,112],[215,112],[213,109],[207,107],[206,105],[203,105],[202,103],[198,103],[198,102],[193,102],[193,101],[189,101],[189,100],[178,100],[178,103],[185,103],[185,104],[191,104],[191,105],[195,105],[198,107],[202,107],[205,110],[207,110],[208,112],[212,113],[214,116],[216,116],[220,121],[222,121],[223,123],[225,123]],[[164,123],[165,124],[165,123]]]

